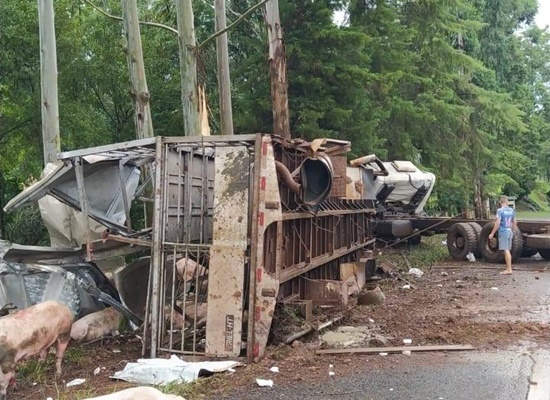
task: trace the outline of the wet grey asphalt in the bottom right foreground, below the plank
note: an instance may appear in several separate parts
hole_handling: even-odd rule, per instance
[[[310,385],[256,387],[230,399],[339,400],[549,400],[550,352],[522,347],[498,352],[389,355],[354,375],[335,375]],[[372,361],[372,358],[371,358]],[[297,371],[307,376],[307,372]],[[327,365],[328,377],[328,365]]]

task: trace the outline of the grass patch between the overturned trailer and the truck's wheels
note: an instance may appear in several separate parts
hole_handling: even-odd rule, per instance
[[[382,249],[381,254],[376,256],[376,263],[390,261],[405,271],[409,268],[427,269],[449,259],[447,246],[442,243],[446,238],[445,234],[423,236],[421,243],[417,246],[402,243]]]

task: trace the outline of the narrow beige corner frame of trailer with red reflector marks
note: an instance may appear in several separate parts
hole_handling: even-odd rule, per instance
[[[265,266],[264,239],[267,227],[283,218],[281,196],[275,170],[275,157],[269,136],[261,138],[259,151],[256,152],[255,185],[252,225],[252,268],[248,325],[248,351],[250,361],[263,357],[271,322],[277,303],[279,280],[276,278],[280,265],[276,266],[275,274],[270,274]],[[258,160],[259,157],[259,160]],[[278,230],[278,232],[280,232]],[[278,241],[280,243],[280,240]]]

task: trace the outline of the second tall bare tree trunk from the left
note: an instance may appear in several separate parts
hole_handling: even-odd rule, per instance
[[[40,0],[39,0],[40,1]],[[141,48],[141,34],[136,0],[122,0],[122,19],[126,35],[126,56],[130,70],[131,95],[134,99],[134,122],[138,139],[153,137],[149,89]]]

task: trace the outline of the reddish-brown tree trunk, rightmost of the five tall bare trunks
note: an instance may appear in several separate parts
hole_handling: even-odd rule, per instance
[[[288,83],[286,80],[286,54],[283,43],[283,29],[279,18],[279,1],[265,4],[264,19],[269,44],[269,77],[271,79],[271,101],[273,103],[273,133],[290,139],[288,121]]]

